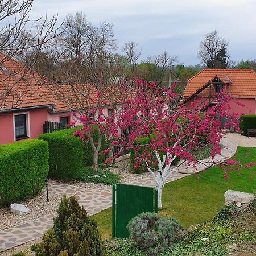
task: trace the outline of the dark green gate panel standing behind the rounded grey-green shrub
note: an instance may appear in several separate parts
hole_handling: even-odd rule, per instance
[[[135,185],[113,185],[112,236],[129,237],[126,228],[131,218],[142,212],[158,212],[158,195],[155,188]]]

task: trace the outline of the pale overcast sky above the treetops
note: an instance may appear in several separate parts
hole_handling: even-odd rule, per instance
[[[142,46],[142,57],[166,49],[179,63],[199,64],[203,36],[218,30],[229,40],[231,59],[256,59],[255,0],[34,0],[31,16],[82,11],[97,24],[114,24],[121,47],[127,41]]]

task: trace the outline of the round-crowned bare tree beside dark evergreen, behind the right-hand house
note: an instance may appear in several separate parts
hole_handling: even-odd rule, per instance
[[[226,53],[225,56],[221,54],[221,52],[226,52],[228,44],[229,43],[224,38],[218,35],[218,31],[214,30],[204,36],[204,40],[200,43],[197,55],[207,67],[218,68],[222,59],[229,57]]]

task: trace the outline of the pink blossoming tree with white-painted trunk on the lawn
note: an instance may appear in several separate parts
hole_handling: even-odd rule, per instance
[[[196,168],[199,160],[193,150],[202,144],[210,144],[213,162],[214,156],[221,153],[220,140],[224,136],[221,119],[229,120],[226,127],[238,128],[237,114],[230,112],[231,97],[219,93],[214,98],[214,105],[208,106],[204,113],[202,108],[194,106],[188,110],[181,104],[181,96],[174,92],[175,84],[170,88],[162,88],[154,82],[137,80],[130,97],[123,104],[114,126],[121,130],[129,129],[129,138],[119,137],[113,144],[132,148],[135,151],[135,168],[142,164],[155,180],[158,189],[158,207],[162,207],[162,191],[168,177],[177,172],[181,163]],[[225,128],[225,127],[224,127]],[[140,144],[138,138],[147,138],[147,144]],[[176,158],[181,159],[174,166]],[[177,160],[177,159],[176,159]],[[220,164],[220,163],[219,163]],[[222,163],[225,175],[232,168],[234,160]]]

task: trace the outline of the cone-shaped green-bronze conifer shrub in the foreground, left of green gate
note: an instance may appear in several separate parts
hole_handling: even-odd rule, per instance
[[[31,246],[36,256],[106,255],[96,221],[89,219],[75,196],[69,199],[63,196],[53,222],[53,228],[44,234],[42,242]]]

